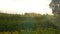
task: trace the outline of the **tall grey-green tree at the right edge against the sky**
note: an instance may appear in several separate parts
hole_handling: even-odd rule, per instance
[[[60,15],[60,0],[52,0],[49,6],[54,15]]]

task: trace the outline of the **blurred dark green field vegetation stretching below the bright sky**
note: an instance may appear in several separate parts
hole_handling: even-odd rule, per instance
[[[20,34],[22,32],[24,32],[22,34],[60,34],[60,16],[29,15],[1,14],[0,32],[18,31]]]

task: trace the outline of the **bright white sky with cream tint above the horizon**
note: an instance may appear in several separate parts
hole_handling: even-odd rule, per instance
[[[0,0],[0,12],[11,14],[41,13],[52,14],[51,0]]]

